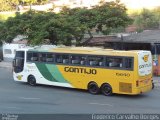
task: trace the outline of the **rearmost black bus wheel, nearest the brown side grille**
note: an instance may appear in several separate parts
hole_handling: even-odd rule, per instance
[[[108,83],[104,83],[101,86],[101,92],[105,96],[111,96],[112,95],[112,87],[111,87],[111,85],[108,84]]]

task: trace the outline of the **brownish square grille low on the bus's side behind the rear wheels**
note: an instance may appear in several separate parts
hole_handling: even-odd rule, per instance
[[[131,83],[119,83],[119,91],[120,92],[127,92],[132,93],[132,84]]]

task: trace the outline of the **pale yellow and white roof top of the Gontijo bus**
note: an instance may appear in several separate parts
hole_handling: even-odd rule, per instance
[[[103,49],[98,47],[55,47],[48,50],[43,49],[29,49],[34,52],[55,52],[55,53],[75,53],[75,54],[91,54],[91,55],[117,55],[117,56],[134,56],[144,50],[113,50]]]

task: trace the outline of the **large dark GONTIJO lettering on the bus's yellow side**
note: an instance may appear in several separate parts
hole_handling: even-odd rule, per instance
[[[96,69],[86,69],[86,68],[75,68],[75,67],[64,67],[65,72],[73,72],[73,73],[83,73],[83,74],[97,74]]]

